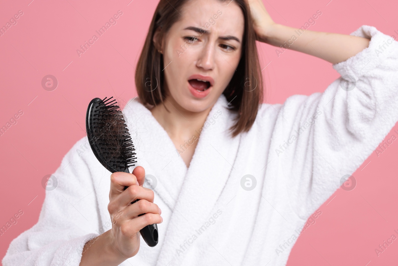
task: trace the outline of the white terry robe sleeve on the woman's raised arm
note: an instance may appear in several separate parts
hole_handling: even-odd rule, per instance
[[[369,47],[333,65],[342,77],[324,93],[289,97],[275,123],[269,158],[279,163],[302,219],[363,164],[398,120],[396,38],[371,26],[351,35],[367,37]]]

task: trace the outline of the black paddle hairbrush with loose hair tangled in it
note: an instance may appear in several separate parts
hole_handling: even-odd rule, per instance
[[[116,100],[111,100],[112,98],[105,97],[103,100],[95,98],[88,105],[86,114],[88,142],[94,155],[106,169],[112,173],[129,173],[129,167],[137,162],[135,148],[123,113],[116,105]],[[136,201],[139,199],[132,203]],[[148,246],[158,244],[156,224],[147,225],[140,230],[140,233]]]

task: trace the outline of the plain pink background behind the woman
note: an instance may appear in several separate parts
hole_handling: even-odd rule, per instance
[[[85,135],[88,102],[112,95],[127,102],[137,95],[134,67],[158,1],[130,1],[2,1],[0,26],[18,10],[23,16],[0,37],[0,127],[18,110],[23,115],[0,136],[0,227],[18,210],[23,215],[0,236],[0,258],[12,239],[37,222],[45,196],[41,180]],[[328,2],[264,1],[275,22],[288,26],[300,27],[321,10],[309,30],[349,34],[366,24],[398,37],[396,0]],[[76,49],[117,10],[123,12],[117,24],[79,57]],[[339,77],[321,59],[295,51],[277,57],[275,47],[258,47],[262,67],[271,61],[263,70],[270,103],[282,103],[293,94],[324,91]],[[54,91],[41,87],[42,78],[49,74],[59,81]],[[392,134],[398,136],[392,130],[388,138]],[[392,234],[398,236],[394,233],[398,231],[397,155],[398,142],[379,156],[374,152],[353,174],[355,189],[338,189],[319,208],[322,215],[298,238],[287,265],[396,263],[398,240],[379,256],[375,248]]]

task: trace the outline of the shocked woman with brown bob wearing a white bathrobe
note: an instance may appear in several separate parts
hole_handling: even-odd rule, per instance
[[[256,39],[334,63],[344,79],[260,104]],[[311,32],[275,24],[261,0],[160,0],[139,100],[124,109],[139,167],[110,175],[78,141],[3,264],[285,265],[296,231],[398,120],[397,70],[397,42],[370,26]],[[140,245],[153,223],[159,244]]]

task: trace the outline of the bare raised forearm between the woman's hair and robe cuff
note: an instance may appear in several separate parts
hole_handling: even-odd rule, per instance
[[[281,51],[292,49],[339,63],[356,55],[369,45],[369,39],[328,32],[314,32],[272,24],[258,35],[259,41],[275,45]],[[282,50],[283,49],[283,50]]]

